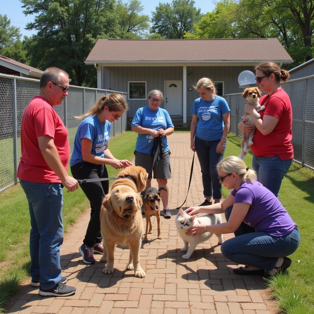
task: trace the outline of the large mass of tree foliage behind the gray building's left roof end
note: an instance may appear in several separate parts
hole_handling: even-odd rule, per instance
[[[131,38],[148,27],[138,0],[21,0],[25,14],[35,14],[27,29],[37,30],[27,42],[32,66],[56,66],[72,84],[95,86],[95,68],[84,60],[99,38]]]

